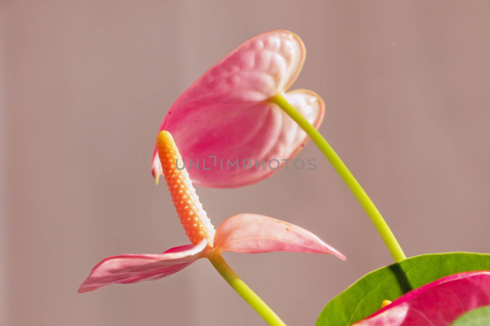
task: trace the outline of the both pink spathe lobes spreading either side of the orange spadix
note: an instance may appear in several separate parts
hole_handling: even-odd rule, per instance
[[[216,230],[214,248],[245,254],[273,251],[334,254],[345,260],[338,250],[313,233],[272,217],[239,214],[226,219]],[[175,247],[161,255],[120,255],[100,261],[78,293],[89,292],[112,283],[137,283],[172,275],[199,258],[206,257],[210,247],[202,238],[192,244]]]

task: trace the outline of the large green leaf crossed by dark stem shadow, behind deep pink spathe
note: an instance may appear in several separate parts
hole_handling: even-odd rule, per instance
[[[444,276],[490,270],[490,255],[475,253],[427,254],[377,269],[359,279],[330,301],[321,311],[317,326],[349,326],[381,308],[383,300]]]

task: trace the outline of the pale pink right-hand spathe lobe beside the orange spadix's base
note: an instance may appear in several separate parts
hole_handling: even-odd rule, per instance
[[[256,214],[239,214],[224,220],[216,230],[215,247],[243,254],[272,251],[334,254],[345,260],[337,249],[310,231]]]

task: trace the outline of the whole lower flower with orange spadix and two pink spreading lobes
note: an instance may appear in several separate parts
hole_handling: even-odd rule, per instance
[[[310,231],[272,217],[239,214],[221,223],[215,232],[202,209],[189,174],[180,169],[182,158],[168,131],[157,137],[157,149],[172,201],[192,244],[163,254],[119,255],[100,261],[80,285],[79,293],[112,283],[136,283],[172,275],[200,258],[221,251],[245,254],[273,251],[334,254],[345,257]]]

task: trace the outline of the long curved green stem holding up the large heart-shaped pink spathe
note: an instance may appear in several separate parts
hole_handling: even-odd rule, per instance
[[[361,206],[368,214],[368,217],[371,219],[372,223],[378,230],[381,239],[385,242],[385,245],[388,247],[388,250],[392,254],[392,257],[395,262],[402,261],[406,258],[403,250],[401,249],[398,241],[390,230],[390,227],[384,220],[384,218],[379,213],[376,206],[374,206],[372,200],[366,194],[364,189],[361,187],[359,182],[357,182],[356,178],[350,173],[349,169],[345,166],[345,164],[340,159],[339,155],[333,150],[333,148],[327,143],[325,138],[319,133],[318,130],[315,129],[302,115],[298,112],[291,104],[286,101],[286,99],[278,94],[273,96],[270,101],[272,103],[277,104],[281,109],[283,109],[293,120],[301,127],[305,132],[310,136],[311,140],[318,146],[319,150],[325,155],[325,157],[330,161],[334,169],[340,175],[342,180],[345,182],[347,187],[349,187],[350,191],[356,199],[359,201]]]

